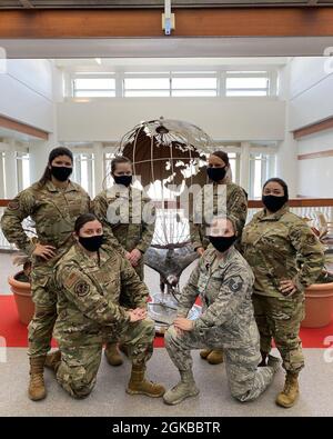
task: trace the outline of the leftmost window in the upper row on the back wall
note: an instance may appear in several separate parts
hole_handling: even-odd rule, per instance
[[[101,74],[80,76],[73,80],[74,98],[113,98],[115,79]]]

